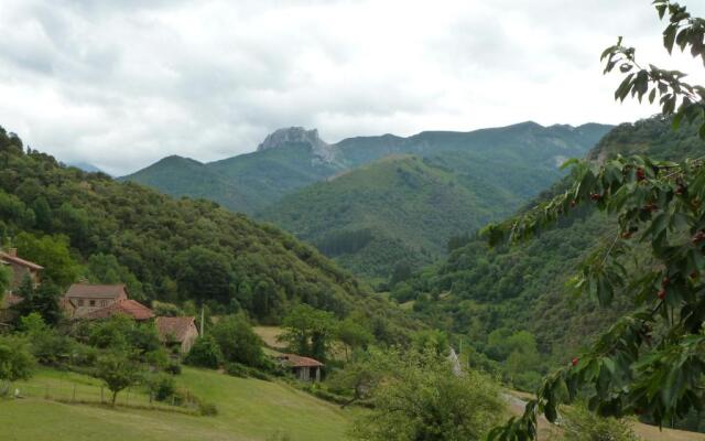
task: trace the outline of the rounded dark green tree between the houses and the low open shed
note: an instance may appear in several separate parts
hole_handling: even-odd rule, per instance
[[[220,347],[224,361],[253,367],[262,366],[264,361],[262,341],[245,318],[235,315],[220,318],[210,327],[210,335]]]

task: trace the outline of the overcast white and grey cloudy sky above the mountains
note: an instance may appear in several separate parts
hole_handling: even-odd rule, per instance
[[[0,0],[0,126],[113,173],[357,135],[631,121],[601,50],[661,49],[650,0]],[[705,14],[702,1],[691,1]],[[697,75],[693,75],[699,79]]]

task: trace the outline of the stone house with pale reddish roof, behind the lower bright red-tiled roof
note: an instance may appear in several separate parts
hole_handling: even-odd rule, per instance
[[[68,315],[83,318],[122,300],[128,300],[124,284],[74,283],[68,288],[62,304]]]

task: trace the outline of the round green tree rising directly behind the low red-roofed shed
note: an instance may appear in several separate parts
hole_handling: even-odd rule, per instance
[[[282,326],[284,332],[279,338],[290,351],[318,361],[327,359],[337,326],[333,314],[301,304],[284,318]]]

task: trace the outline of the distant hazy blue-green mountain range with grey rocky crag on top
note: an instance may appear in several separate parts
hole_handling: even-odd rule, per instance
[[[231,211],[253,214],[288,193],[390,154],[425,157],[462,152],[451,155],[448,162],[458,170],[468,163],[476,164],[482,173],[460,179],[495,176],[506,180],[520,194],[534,194],[535,187],[544,187],[560,176],[557,163],[583,155],[608,129],[594,123],[542,127],[524,122],[471,132],[422,132],[409,138],[358,137],[328,144],[317,130],[292,127],[269,135],[252,153],[197,163],[203,166],[194,166],[188,173],[183,171],[183,164],[162,160],[121,180],[175,196],[207,197]],[[508,161],[527,173],[517,179],[505,173],[501,165]],[[532,171],[536,164],[541,168]],[[523,178],[529,182],[522,182]],[[198,182],[195,190],[192,180]]]

